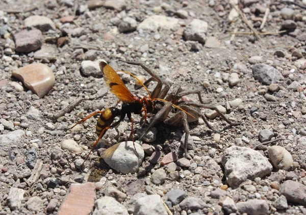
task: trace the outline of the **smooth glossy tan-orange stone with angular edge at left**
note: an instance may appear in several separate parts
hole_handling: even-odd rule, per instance
[[[12,72],[12,75],[19,79],[25,87],[37,94],[39,98],[47,94],[55,83],[52,70],[41,63],[21,67]]]

